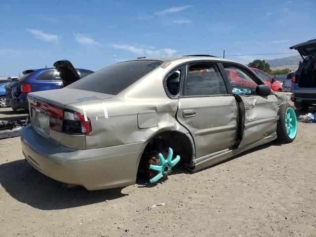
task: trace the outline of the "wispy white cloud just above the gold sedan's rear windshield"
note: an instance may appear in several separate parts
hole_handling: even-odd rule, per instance
[[[150,57],[173,56],[177,52],[177,50],[171,49],[171,48],[157,49],[153,46],[140,47],[140,46],[133,46],[129,44],[116,44],[116,43],[113,43],[112,47],[130,51],[137,56],[150,56]]]

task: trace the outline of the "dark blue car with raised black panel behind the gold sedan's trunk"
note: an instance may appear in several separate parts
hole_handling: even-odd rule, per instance
[[[11,83],[9,106],[13,109],[29,110],[27,95],[29,92],[60,89],[89,74],[93,71],[75,69],[71,62],[61,60],[54,63],[54,68],[32,69],[23,72],[23,76]]]

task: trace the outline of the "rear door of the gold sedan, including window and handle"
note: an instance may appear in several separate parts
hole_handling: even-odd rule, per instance
[[[176,92],[175,92],[176,93]],[[196,158],[232,148],[237,140],[237,104],[213,62],[187,66],[178,121],[192,134]]]

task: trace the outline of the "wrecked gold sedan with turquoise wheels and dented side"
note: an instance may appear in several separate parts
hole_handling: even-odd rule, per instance
[[[177,163],[195,172],[296,136],[287,100],[249,68],[213,56],[121,62],[28,100],[24,157],[88,190],[132,185],[138,172],[157,182]]]

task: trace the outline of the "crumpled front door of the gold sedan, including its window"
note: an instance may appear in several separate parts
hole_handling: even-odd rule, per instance
[[[262,81],[257,79],[250,70],[238,65],[223,64],[223,66],[239,105],[238,135],[241,138],[239,147],[274,134],[278,119],[276,96],[258,95],[256,87],[262,84]],[[240,90],[243,93],[240,93]]]

